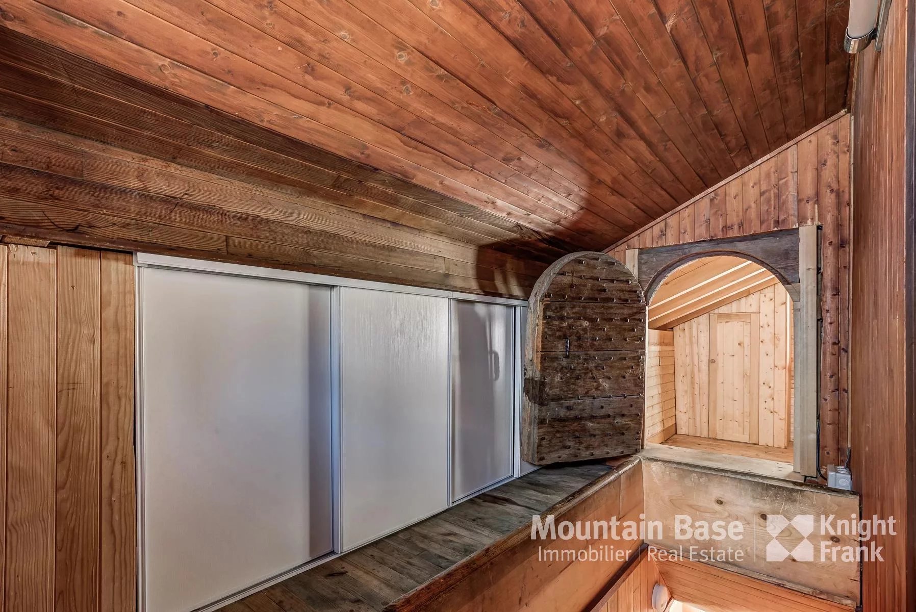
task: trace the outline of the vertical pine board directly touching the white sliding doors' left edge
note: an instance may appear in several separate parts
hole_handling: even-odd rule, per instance
[[[127,253],[102,253],[101,533],[99,612],[136,602],[134,466],[135,270]]]

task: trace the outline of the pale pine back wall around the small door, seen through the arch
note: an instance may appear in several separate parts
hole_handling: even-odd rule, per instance
[[[791,298],[779,283],[674,328],[677,432],[713,437],[710,315],[732,312],[758,314],[758,443],[785,448],[791,440],[792,311]]]

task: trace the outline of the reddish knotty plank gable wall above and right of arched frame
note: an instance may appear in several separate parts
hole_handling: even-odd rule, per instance
[[[845,462],[849,395],[849,115],[785,147],[686,202],[608,249],[677,245],[821,224],[821,464]]]

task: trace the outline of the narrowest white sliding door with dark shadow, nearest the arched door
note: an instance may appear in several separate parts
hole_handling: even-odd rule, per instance
[[[452,302],[452,497],[512,475],[515,309]]]

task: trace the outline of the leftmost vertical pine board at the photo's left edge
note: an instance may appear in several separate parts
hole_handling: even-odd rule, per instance
[[[11,245],[8,256],[8,610],[54,608],[55,251]]]

